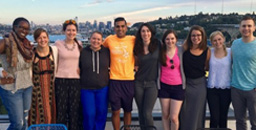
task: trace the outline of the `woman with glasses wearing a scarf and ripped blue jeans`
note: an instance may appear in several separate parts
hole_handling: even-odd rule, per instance
[[[27,19],[16,18],[12,31],[0,41],[0,58],[8,79],[1,79],[0,95],[8,112],[8,130],[25,130],[31,105],[31,66],[34,53],[26,38],[30,31]]]

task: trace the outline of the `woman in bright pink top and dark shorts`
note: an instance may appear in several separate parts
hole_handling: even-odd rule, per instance
[[[182,47],[178,47],[177,34],[167,30],[162,38],[161,88],[158,97],[162,108],[164,130],[179,129],[179,113],[185,94],[185,75],[182,64]],[[171,127],[170,127],[171,122]]]

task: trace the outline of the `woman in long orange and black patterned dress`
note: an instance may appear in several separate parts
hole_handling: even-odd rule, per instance
[[[54,75],[57,61],[57,48],[49,46],[48,33],[38,28],[34,32],[38,43],[34,49],[32,106],[29,112],[29,125],[56,123],[56,103]]]

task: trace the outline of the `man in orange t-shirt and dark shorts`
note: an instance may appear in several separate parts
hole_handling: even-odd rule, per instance
[[[124,124],[131,124],[134,96],[134,36],[126,36],[127,23],[122,17],[114,21],[115,35],[108,36],[103,45],[110,50],[109,101],[114,130],[120,128],[120,109],[124,110]]]

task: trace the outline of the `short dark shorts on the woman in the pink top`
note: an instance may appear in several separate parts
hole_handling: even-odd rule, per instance
[[[168,85],[165,83],[160,83],[161,89],[158,90],[159,98],[171,98],[175,100],[184,100],[185,90],[181,85]]]

